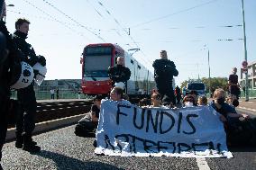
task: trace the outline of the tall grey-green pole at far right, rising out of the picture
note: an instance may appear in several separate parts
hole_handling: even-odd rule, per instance
[[[243,49],[244,49],[244,61],[247,62],[247,48],[246,48],[246,34],[245,34],[245,20],[244,20],[244,10],[243,10],[243,0],[242,0],[242,30],[243,30]],[[245,74],[245,102],[249,101],[249,87],[248,87],[248,71]]]

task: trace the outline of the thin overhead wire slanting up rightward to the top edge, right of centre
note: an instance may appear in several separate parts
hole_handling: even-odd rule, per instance
[[[160,17],[158,17],[158,18],[152,19],[152,20],[150,20],[150,21],[148,21],[148,22],[138,23],[138,24],[136,24],[136,25],[133,25],[131,28],[139,27],[139,26],[142,26],[142,25],[145,25],[145,24],[151,23],[151,22],[157,22],[157,21],[163,20],[163,19],[165,19],[165,18],[168,18],[168,17],[170,17],[170,16],[173,16],[173,15],[176,15],[176,14],[179,14],[179,13],[185,13],[185,12],[187,12],[187,11],[191,11],[191,10],[193,10],[193,9],[195,9],[195,8],[198,8],[198,7],[204,6],[204,5],[206,5],[206,4],[214,3],[215,1],[218,1],[218,0],[211,0],[211,1],[208,1],[208,2],[206,2],[206,3],[203,3],[203,4],[197,4],[197,5],[195,5],[195,6],[192,6],[192,7],[186,8],[186,9],[184,9],[184,10],[180,10],[180,11],[175,12],[175,13],[169,13],[169,14],[167,14],[167,15],[160,16]]]

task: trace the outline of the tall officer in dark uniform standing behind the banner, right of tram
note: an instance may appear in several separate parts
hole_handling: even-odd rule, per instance
[[[158,92],[162,97],[169,99],[171,103],[176,104],[172,79],[173,76],[178,76],[178,70],[176,69],[174,62],[168,59],[166,50],[160,51],[160,59],[156,59],[152,66],[154,67],[154,77]]]

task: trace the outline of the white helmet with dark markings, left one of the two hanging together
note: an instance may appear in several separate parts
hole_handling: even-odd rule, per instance
[[[34,74],[32,67],[28,63],[23,61],[21,62],[21,72],[19,74],[19,79],[14,83],[14,85],[11,85],[11,88],[21,89],[32,84]]]

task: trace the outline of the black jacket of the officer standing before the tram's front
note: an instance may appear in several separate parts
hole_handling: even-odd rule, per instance
[[[131,71],[128,67],[123,67],[122,65],[117,65],[116,67],[108,68],[108,76],[114,82],[126,83],[131,76]]]

